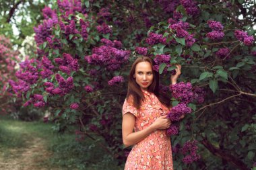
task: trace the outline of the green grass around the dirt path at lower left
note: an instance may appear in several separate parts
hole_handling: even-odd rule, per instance
[[[118,166],[106,152],[98,147],[95,141],[86,138],[83,142],[75,140],[74,132],[57,134],[51,127],[53,124],[43,122],[22,122],[9,117],[0,119],[0,157],[14,159],[13,150],[20,153],[28,148],[35,138],[42,139],[50,157],[38,163],[39,167],[49,169],[123,169]],[[98,140],[98,142],[102,142]],[[40,157],[34,153],[34,157]]]

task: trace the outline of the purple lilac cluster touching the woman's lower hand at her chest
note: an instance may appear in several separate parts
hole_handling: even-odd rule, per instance
[[[181,119],[181,116],[185,114],[190,114],[192,112],[191,108],[187,107],[186,104],[181,103],[176,106],[174,106],[170,112],[168,113],[168,118],[171,121],[179,121]]]

